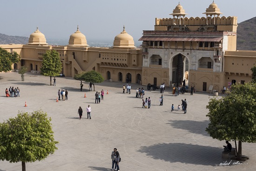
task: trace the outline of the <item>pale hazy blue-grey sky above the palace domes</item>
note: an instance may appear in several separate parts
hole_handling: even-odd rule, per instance
[[[79,30],[87,41],[113,40],[125,25],[137,41],[143,30],[154,30],[155,18],[170,18],[180,4],[187,17],[205,17],[213,0],[1,0],[0,33],[29,37],[39,27],[46,39],[68,39]],[[238,23],[256,17],[256,0],[215,0]]]

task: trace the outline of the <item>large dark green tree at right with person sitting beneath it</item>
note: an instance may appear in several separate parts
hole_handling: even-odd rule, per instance
[[[242,142],[256,142],[256,83],[232,85],[229,95],[210,99],[206,107],[213,139],[238,140],[237,159],[242,159]]]

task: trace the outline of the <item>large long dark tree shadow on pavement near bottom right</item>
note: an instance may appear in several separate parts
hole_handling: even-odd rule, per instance
[[[184,143],[156,144],[142,146],[138,152],[146,153],[154,159],[171,163],[180,162],[194,165],[219,165],[222,161],[222,149],[211,146],[199,146]],[[218,158],[219,156],[219,158]]]

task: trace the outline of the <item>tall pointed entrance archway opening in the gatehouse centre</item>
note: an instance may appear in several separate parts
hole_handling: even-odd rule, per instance
[[[182,82],[185,80],[186,85],[188,86],[188,76],[189,76],[189,60],[187,57],[182,54],[178,54],[172,59],[171,66],[171,82],[175,86],[182,85]]]

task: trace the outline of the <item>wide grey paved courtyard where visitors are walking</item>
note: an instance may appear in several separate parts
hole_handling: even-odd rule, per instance
[[[243,143],[243,155],[249,160],[240,165],[219,166],[225,141],[212,139],[205,132],[208,126],[206,105],[213,96],[204,93],[185,93],[173,96],[164,92],[159,106],[160,90],[148,91],[146,86],[131,84],[131,94],[122,94],[121,82],[95,84],[95,91],[104,89],[104,100],[94,103],[95,92],[84,83],[70,77],[56,77],[56,86],[49,86],[46,76],[25,74],[22,82],[18,73],[0,73],[0,122],[15,117],[18,111],[42,109],[52,118],[58,150],[45,160],[27,163],[27,171],[110,171],[111,152],[117,148],[122,161],[121,171],[255,171],[256,146]],[[5,89],[20,88],[20,97],[5,97]],[[135,98],[135,89],[145,89],[151,108],[142,107]],[[56,102],[59,89],[68,90],[68,100]],[[108,90],[108,95],[107,95]],[[84,94],[86,93],[86,98]],[[187,99],[187,114],[177,111],[182,99]],[[24,107],[25,101],[27,107]],[[171,105],[175,111],[171,111]],[[86,107],[92,108],[87,119]],[[81,106],[84,113],[79,120]],[[234,142],[231,142],[235,146]],[[230,159],[227,160],[230,162]],[[0,161],[0,171],[21,171],[20,163]]]

